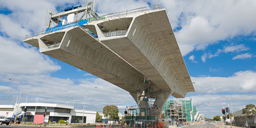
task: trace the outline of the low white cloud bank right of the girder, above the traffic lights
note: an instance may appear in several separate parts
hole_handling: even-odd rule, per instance
[[[230,77],[191,77],[196,82],[198,94],[217,94],[219,92],[247,93],[256,91],[256,72],[240,71]]]

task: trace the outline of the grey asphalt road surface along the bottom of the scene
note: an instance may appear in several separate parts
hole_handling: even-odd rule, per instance
[[[11,127],[35,127],[35,126],[14,126],[14,125],[5,125],[5,124],[3,124],[3,125],[0,125],[0,128],[2,128],[2,127],[8,127],[8,128],[11,128]],[[53,127],[56,127],[56,126],[53,126]],[[63,127],[66,127],[66,126],[63,126]],[[76,127],[82,127],[82,126],[76,126]],[[206,123],[206,124],[195,124],[195,125],[190,125],[190,126],[182,126],[182,127],[180,127],[180,128],[213,128],[213,127],[215,127],[215,125],[213,125],[213,124],[208,124],[208,123]],[[47,128],[50,128],[49,126],[47,126]],[[91,127],[86,127],[86,128],[91,128]],[[177,128],[179,128],[179,127],[177,127]]]

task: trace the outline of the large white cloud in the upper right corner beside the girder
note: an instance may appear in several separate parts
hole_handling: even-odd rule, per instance
[[[256,1],[160,0],[160,5],[169,10],[172,28],[181,27],[175,36],[183,56],[194,49],[204,50],[220,40],[247,36],[256,30],[253,22]]]

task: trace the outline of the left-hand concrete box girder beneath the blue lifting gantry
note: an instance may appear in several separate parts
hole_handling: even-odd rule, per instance
[[[96,75],[126,91],[137,92],[137,90],[143,89],[144,75],[95,40],[85,30],[75,27],[63,31],[65,34],[62,34],[61,31],[57,34],[53,32],[24,40],[24,42],[34,46],[39,43],[40,51],[42,51],[41,49],[47,45],[45,40],[41,40],[45,39],[45,36],[50,37],[51,34],[55,34],[58,38],[62,36],[59,48],[42,51],[42,53]],[[38,40],[38,42],[34,40]],[[67,46],[69,40],[70,44]],[[154,88],[159,90],[156,86]]]

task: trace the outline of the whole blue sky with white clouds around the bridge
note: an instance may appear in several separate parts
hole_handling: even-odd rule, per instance
[[[101,112],[116,105],[134,105],[130,94],[96,76],[41,54],[22,40],[42,31],[46,11],[84,1],[0,1],[0,104],[14,104],[24,86],[21,102],[59,103]],[[207,118],[221,115],[232,101],[234,111],[256,104],[256,1],[158,1],[168,10],[184,61],[196,92],[193,105]],[[153,0],[97,0],[104,15],[155,5]],[[28,6],[28,4],[30,6]],[[40,5],[40,6],[38,6]],[[219,98],[217,96],[222,96]],[[75,102],[73,102],[75,98]],[[171,96],[170,99],[173,97]]]

